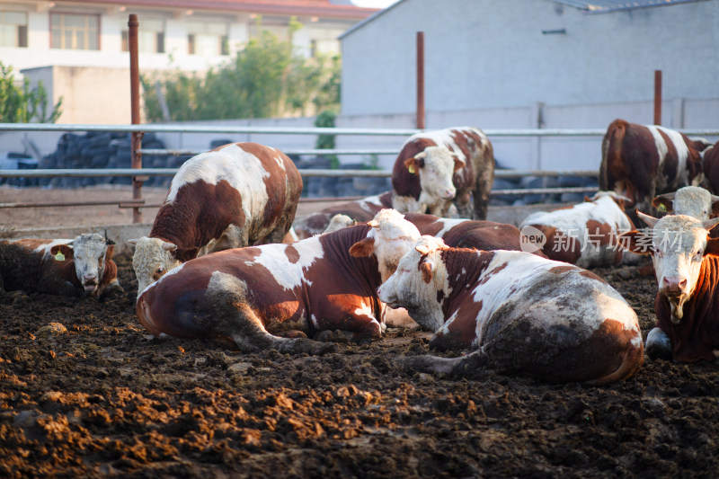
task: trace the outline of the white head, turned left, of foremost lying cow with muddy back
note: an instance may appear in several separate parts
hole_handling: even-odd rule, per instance
[[[448,293],[447,268],[441,258],[447,249],[440,238],[422,236],[377,289],[379,299],[387,306],[404,307],[417,324],[437,331],[444,324],[438,292]]]

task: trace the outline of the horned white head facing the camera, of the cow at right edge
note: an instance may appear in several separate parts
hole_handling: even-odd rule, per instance
[[[695,217],[668,215],[657,219],[637,214],[652,230],[619,235],[620,244],[634,253],[652,254],[659,293],[670,302],[671,322],[679,324],[684,303],[697,286],[704,256],[719,254],[719,239],[707,235],[719,224],[719,218],[699,221]]]

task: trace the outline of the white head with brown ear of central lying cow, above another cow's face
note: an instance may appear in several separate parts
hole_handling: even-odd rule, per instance
[[[352,244],[350,254],[357,257],[374,254],[384,281],[395,272],[400,258],[420,237],[420,231],[395,209],[381,210],[368,225],[372,229],[366,238]]]

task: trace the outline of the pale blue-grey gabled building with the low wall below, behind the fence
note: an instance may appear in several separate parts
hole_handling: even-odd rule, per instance
[[[414,126],[423,31],[428,129],[652,123],[655,70],[663,125],[719,129],[717,25],[719,0],[400,0],[341,36],[342,126]],[[507,166],[599,165],[598,137],[491,139]]]

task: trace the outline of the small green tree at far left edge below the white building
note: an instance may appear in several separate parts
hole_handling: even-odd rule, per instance
[[[45,85],[40,82],[30,87],[30,80],[23,79],[18,86],[13,67],[0,61],[0,122],[2,123],[55,123],[62,113],[62,97],[49,111],[51,102]]]

